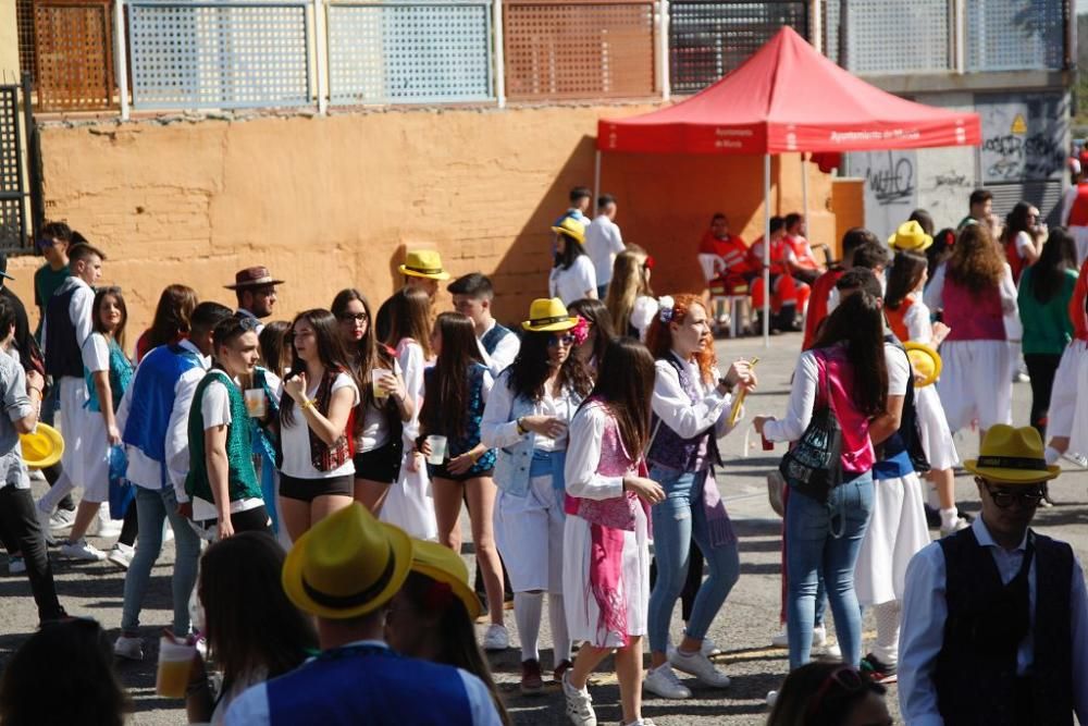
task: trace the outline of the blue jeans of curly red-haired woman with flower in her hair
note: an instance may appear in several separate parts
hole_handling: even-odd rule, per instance
[[[650,593],[650,650],[666,652],[672,610],[688,578],[688,553],[695,540],[706,558],[709,575],[703,581],[691,608],[685,635],[695,640],[706,637],[714,617],[721,610],[740,577],[741,562],[737,542],[710,546],[710,532],[703,507],[706,471],[694,473],[653,467],[650,478],[665,489],[665,501],[651,509],[654,522],[654,558],[657,581]]]

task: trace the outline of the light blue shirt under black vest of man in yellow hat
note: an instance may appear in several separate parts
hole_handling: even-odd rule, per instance
[[[989,549],[998,566],[1001,581],[1007,585],[1019,571],[1027,547],[1027,536],[1007,551],[993,541],[981,517],[972,524],[978,543]],[[1070,625],[1073,647],[1073,710],[1081,724],[1088,724],[1088,598],[1079,561],[1074,556],[1073,582],[1070,587]],[[1036,561],[1027,574],[1028,607],[1035,622]],[[911,559],[906,568],[906,591],[903,595],[903,625],[899,636],[899,702],[908,726],[942,726],[937,709],[937,687],[934,674],[937,655],[944,644],[944,623],[948,620],[945,600],[945,563],[940,544],[932,542]],[[1053,593],[1062,596],[1062,593]],[[1016,651],[1016,673],[1024,675],[1035,662],[1031,631]]]

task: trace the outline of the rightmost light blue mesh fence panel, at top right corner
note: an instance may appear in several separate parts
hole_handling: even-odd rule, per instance
[[[1061,69],[1065,3],[967,0],[967,70]]]

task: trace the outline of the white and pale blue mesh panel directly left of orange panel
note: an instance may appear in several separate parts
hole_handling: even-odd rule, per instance
[[[329,5],[333,103],[494,98],[491,2]]]

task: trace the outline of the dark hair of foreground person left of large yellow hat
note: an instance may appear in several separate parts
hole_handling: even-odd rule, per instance
[[[240,532],[215,542],[200,557],[197,594],[205,606],[205,635],[224,684],[265,672],[293,670],[317,648],[309,617],[280,585],[284,552],[262,532]]]

